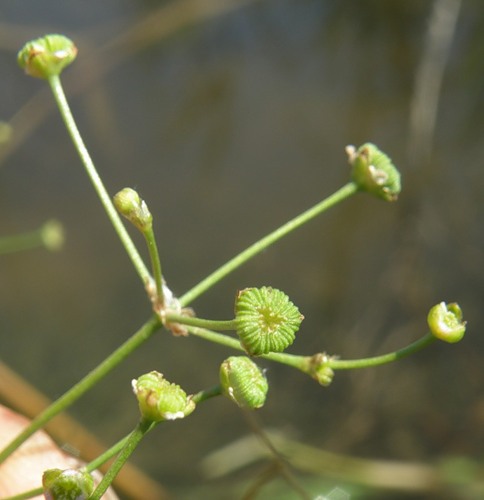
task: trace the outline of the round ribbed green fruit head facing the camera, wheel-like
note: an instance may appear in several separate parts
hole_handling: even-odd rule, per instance
[[[284,351],[303,319],[289,297],[275,288],[246,288],[237,294],[237,335],[251,356]]]

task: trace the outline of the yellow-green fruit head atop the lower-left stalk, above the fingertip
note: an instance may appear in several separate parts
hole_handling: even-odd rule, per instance
[[[184,418],[195,409],[195,403],[185,391],[152,371],[132,382],[141,415],[146,420],[160,422]]]

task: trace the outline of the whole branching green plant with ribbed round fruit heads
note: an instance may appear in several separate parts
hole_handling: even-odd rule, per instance
[[[67,498],[62,495],[74,491],[75,488],[80,488],[76,498],[84,498],[82,495],[88,495],[93,500],[101,498],[137,444],[149,431],[159,423],[187,417],[194,412],[197,405],[214,396],[224,395],[241,408],[261,408],[265,403],[269,385],[265,374],[252,359],[254,357],[286,364],[306,373],[322,386],[328,386],[337,370],[367,368],[393,362],[428,346],[436,338],[446,342],[457,342],[462,339],[465,322],[462,320],[460,307],[455,303],[446,305],[442,302],[433,307],[429,313],[430,333],[395,352],[357,360],[345,360],[325,352],[309,356],[287,354],[284,351],[295,341],[303,316],[284,292],[270,286],[245,288],[238,292],[235,315],[232,319],[220,321],[197,317],[193,310],[187,308],[196,297],[206,293],[229,273],[317,215],[358,192],[367,192],[384,201],[395,201],[401,190],[400,173],[390,158],[374,144],[366,143],[359,148],[348,146],[346,151],[351,172],[347,184],[250,245],[177,298],[163,279],[153,233],[153,216],[146,202],[136,191],[125,188],[114,196],[113,203],[79,134],[60,82],[62,70],[75,59],[76,55],[77,49],[68,38],[62,35],[47,35],[27,43],[19,52],[18,62],[27,74],[48,81],[74,146],[107,216],[141,278],[155,314],[152,314],[130,339],[95,370],[34,419],[25,431],[0,452],[0,462],[47,421],[97,384],[126,356],[149,341],[155,331],[163,327],[177,335],[196,335],[231,349],[245,351],[250,357],[228,357],[218,368],[218,377],[217,369],[214,368],[214,377],[218,379],[218,384],[193,395],[187,395],[181,387],[168,382],[157,371],[141,375],[133,381],[133,391],[140,409],[138,424],[127,437],[104,453],[99,460],[88,464],[85,469],[85,471],[93,470],[116,455],[113,465],[101,483],[91,493],[92,480],[87,472],[49,470],[44,474],[46,495],[51,495],[48,498]],[[118,211],[142,233],[150,254],[151,270],[144,264]],[[218,331],[235,332],[236,336],[217,333]],[[181,359],[180,363],[183,362],[185,360]],[[284,397],[290,397],[290,394],[284,394]],[[56,488],[60,484],[64,492],[59,489],[56,493]]]

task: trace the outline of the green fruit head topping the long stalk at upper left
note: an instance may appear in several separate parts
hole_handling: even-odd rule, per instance
[[[25,72],[36,78],[60,75],[77,55],[77,47],[63,35],[45,35],[26,43],[17,55]]]

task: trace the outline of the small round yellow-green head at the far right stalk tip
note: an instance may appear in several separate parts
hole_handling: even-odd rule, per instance
[[[432,307],[427,316],[432,335],[444,342],[455,343],[464,336],[466,322],[462,320],[459,304],[441,302]]]

